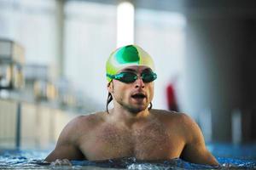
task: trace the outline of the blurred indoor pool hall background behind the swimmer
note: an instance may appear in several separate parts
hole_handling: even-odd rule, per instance
[[[0,0],[0,147],[49,148],[104,111],[105,62],[131,43],[154,59],[154,108],[193,117],[207,142],[255,143],[253,0]]]

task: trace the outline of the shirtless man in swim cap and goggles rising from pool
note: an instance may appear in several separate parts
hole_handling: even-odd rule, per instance
[[[207,150],[201,129],[189,116],[152,109],[157,76],[153,60],[143,48],[118,48],[110,54],[106,66],[107,111],[78,116],[69,122],[45,161],[66,160],[65,164],[67,160],[123,157],[145,161],[182,158],[218,165]],[[112,100],[113,109],[108,110]]]

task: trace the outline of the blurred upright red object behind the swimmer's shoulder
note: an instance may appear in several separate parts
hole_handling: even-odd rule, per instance
[[[178,111],[177,100],[172,83],[168,84],[166,88],[166,94],[169,111]]]

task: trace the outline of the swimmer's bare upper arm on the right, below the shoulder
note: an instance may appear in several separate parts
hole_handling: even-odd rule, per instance
[[[200,127],[189,116],[183,115],[186,143],[181,158],[185,161],[218,166],[218,161],[207,150]]]

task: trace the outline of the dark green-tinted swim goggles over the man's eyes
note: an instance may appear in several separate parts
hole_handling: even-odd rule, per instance
[[[116,75],[107,74],[107,77],[125,83],[135,82],[138,79],[137,74],[131,71],[123,71]],[[157,75],[153,71],[145,71],[140,77],[143,79],[143,82],[153,82]]]

